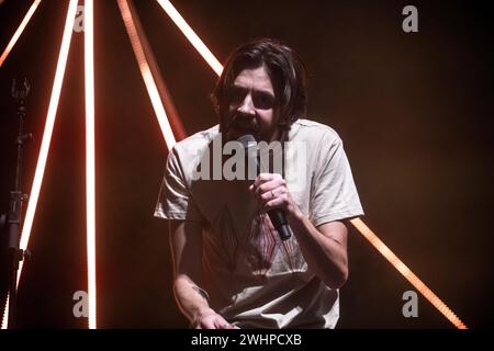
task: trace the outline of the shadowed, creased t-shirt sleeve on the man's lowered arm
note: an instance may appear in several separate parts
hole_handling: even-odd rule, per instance
[[[202,220],[190,195],[183,176],[183,168],[176,148],[168,154],[165,177],[155,208],[155,217],[180,220]]]

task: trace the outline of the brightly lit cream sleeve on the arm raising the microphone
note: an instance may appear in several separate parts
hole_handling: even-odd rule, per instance
[[[323,136],[310,197],[310,218],[314,226],[363,215],[343,141],[336,135]]]

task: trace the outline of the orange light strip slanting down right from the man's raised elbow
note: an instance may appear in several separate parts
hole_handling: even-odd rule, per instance
[[[390,263],[402,275],[415,286],[416,290],[427,298],[434,307],[436,307],[449,321],[451,321],[458,329],[468,329],[460,318],[435,294],[433,291],[424,284],[417,275],[414,274],[406,265],[400,260],[396,254],[393,253],[378,238],[378,236],[360,219],[355,218],[350,220],[351,224],[368,239],[378,251],[390,261]]]

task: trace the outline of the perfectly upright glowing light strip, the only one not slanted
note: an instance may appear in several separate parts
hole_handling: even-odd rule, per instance
[[[94,160],[94,21],[93,1],[85,0],[86,82],[86,220],[88,251],[89,329],[97,328],[96,284],[96,160]]]

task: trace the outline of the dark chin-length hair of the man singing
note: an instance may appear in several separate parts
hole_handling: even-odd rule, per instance
[[[220,115],[221,128],[228,111],[235,78],[244,69],[256,69],[261,66],[266,67],[274,89],[274,109],[279,115],[279,126],[287,128],[305,114],[307,70],[304,63],[287,45],[262,38],[237,47],[229,55],[216,82],[211,99]]]

